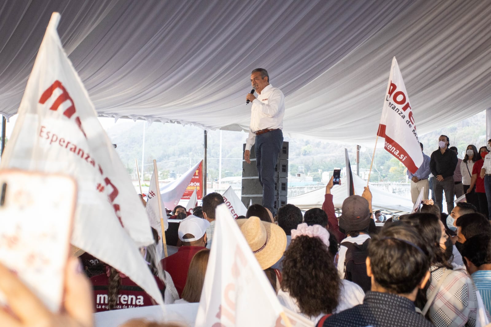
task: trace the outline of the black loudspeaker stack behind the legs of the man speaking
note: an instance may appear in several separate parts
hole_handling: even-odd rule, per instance
[[[243,151],[246,151],[244,144]],[[274,167],[274,209],[286,204],[288,194],[288,142],[283,142]],[[256,167],[256,152],[254,146],[250,149],[250,164],[242,160],[242,203],[249,207],[252,204],[263,204],[263,187],[259,182]]]

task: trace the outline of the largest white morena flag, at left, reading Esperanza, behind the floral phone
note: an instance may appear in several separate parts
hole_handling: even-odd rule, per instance
[[[163,304],[138,249],[153,243],[145,209],[61,46],[59,19],[53,13],[0,167],[73,176],[78,198],[72,244],[127,275]]]

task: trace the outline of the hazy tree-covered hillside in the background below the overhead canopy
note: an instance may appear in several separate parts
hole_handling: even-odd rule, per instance
[[[109,119],[108,119],[109,120]],[[141,170],[143,130],[145,180],[149,180],[153,171],[153,159],[156,159],[160,178],[167,178],[171,171],[183,174],[194,163],[203,159],[203,130],[196,126],[179,124],[153,123],[148,126],[145,121],[120,119],[116,124],[103,124],[112,143],[117,144],[116,151],[128,173],[136,179],[135,158]],[[144,126],[145,125],[145,126]],[[374,130],[374,135],[376,131]],[[469,144],[478,148],[486,145],[486,115],[476,114],[462,121],[457,121],[425,135],[420,135],[424,152],[428,155],[438,147],[438,136],[445,134],[450,138],[451,146],[459,149],[459,157]],[[243,144],[247,133],[221,131],[221,169],[222,178],[242,176]],[[290,175],[300,171],[312,176],[313,181],[320,181],[322,172],[332,172],[334,168],[344,167],[344,148],[347,148],[352,164],[355,164],[356,145],[327,142],[313,138],[288,138],[290,142]],[[220,131],[208,132],[208,179],[218,179],[220,152]],[[372,159],[373,148],[362,147],[360,151],[360,171],[368,170]],[[406,181],[405,167],[391,154],[383,149],[379,142],[375,152],[374,168],[371,181]]]

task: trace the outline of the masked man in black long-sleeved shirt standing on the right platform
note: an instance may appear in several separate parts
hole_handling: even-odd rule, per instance
[[[457,167],[457,154],[448,149],[450,140],[446,135],[438,138],[438,150],[433,151],[430,157],[430,170],[433,179],[433,191],[435,192],[436,204],[443,211],[443,192],[447,201],[447,213],[454,208],[454,172]]]

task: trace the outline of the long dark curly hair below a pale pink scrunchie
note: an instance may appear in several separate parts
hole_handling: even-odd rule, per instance
[[[281,289],[297,300],[307,316],[332,313],[338,305],[341,280],[326,245],[318,237],[300,235],[284,255]]]

